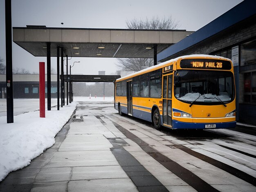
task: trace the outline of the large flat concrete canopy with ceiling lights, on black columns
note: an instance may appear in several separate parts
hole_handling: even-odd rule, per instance
[[[34,56],[57,56],[63,47],[69,57],[154,58],[157,53],[179,42],[193,31],[142,29],[80,29],[46,26],[13,27],[13,42]]]

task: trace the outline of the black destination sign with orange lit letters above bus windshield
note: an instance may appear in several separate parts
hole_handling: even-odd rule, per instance
[[[184,59],[180,61],[180,67],[186,69],[222,69],[230,70],[231,63],[227,60],[213,59]]]

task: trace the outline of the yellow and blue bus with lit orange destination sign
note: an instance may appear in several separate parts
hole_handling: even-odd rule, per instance
[[[115,109],[153,122],[156,129],[236,127],[236,90],[230,59],[181,56],[119,78]]]

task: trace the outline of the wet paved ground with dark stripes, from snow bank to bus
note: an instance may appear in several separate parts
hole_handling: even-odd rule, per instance
[[[56,143],[27,167],[11,172],[0,182],[0,191],[255,191],[254,134],[240,134],[240,129],[203,131],[200,136],[159,132],[134,120],[119,116],[109,102],[79,102]],[[233,155],[217,146],[230,148],[232,143],[239,149],[241,139],[243,149],[252,153],[246,159],[248,154],[236,150]],[[228,154],[229,161],[241,164],[227,167],[229,161],[222,159]]]

